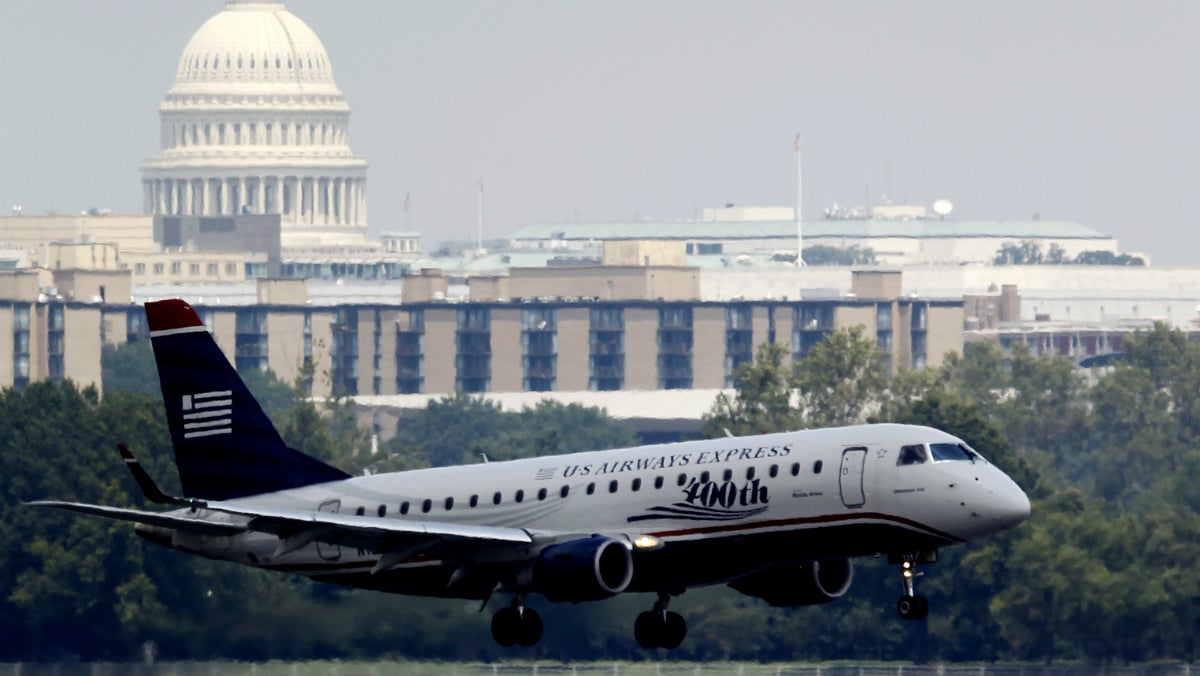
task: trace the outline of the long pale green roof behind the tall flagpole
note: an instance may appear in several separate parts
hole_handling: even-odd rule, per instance
[[[634,221],[542,223],[506,235],[522,239],[770,239],[794,238],[794,221]],[[804,221],[805,238],[1110,239],[1070,221]]]

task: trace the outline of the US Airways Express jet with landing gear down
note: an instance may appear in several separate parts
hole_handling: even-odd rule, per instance
[[[550,602],[653,593],[634,636],[676,648],[670,602],[728,585],[773,606],[828,603],[852,558],[901,569],[896,611],[929,611],[917,567],[940,548],[1012,528],[1025,492],[966,442],[875,424],[686,441],[504,462],[350,477],[288,448],[194,310],[145,304],[182,497],[162,492],[119,444],[140,510],[29,504],[134,524],[164,548],[323,582],[401,594],[511,597],[493,639],[542,635],[530,594]]]

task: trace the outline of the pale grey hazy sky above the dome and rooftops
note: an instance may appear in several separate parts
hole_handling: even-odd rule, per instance
[[[0,205],[142,208],[220,0],[0,1]],[[804,214],[890,192],[1068,220],[1200,265],[1200,2],[317,1],[372,229]],[[890,171],[886,169],[890,167]],[[889,179],[890,177],[890,179]]]

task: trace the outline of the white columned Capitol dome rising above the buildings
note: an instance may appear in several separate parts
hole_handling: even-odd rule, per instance
[[[361,237],[367,163],[350,151],[349,113],[307,24],[281,1],[228,0],[187,42],[160,107],[145,210],[280,214],[284,246]]]

